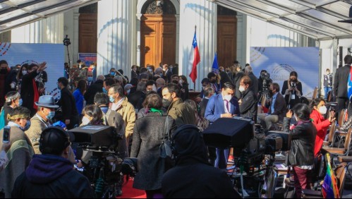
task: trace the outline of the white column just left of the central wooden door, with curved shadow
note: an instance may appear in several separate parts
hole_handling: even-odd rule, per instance
[[[130,76],[136,0],[102,0],[98,2],[97,74],[110,68],[122,69]]]

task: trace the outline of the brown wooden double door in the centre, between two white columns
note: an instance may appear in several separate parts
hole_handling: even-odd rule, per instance
[[[140,66],[176,63],[176,17],[145,14],[140,25]]]

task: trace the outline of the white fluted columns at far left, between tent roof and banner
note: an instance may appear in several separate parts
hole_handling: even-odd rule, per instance
[[[11,30],[13,43],[50,43],[63,41],[63,13]]]

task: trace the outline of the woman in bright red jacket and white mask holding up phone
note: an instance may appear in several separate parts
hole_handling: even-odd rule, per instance
[[[310,119],[314,123],[315,128],[317,128],[317,137],[315,138],[315,147],[314,155],[317,157],[317,154],[322,148],[322,143],[325,136],[327,135],[327,128],[329,128],[332,122],[335,122],[335,112],[331,111],[329,114],[329,119],[324,118],[324,114],[327,114],[327,107],[325,107],[325,101],[321,98],[317,98],[310,102]]]

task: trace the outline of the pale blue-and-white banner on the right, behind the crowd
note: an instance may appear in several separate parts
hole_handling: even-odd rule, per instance
[[[296,71],[305,97],[312,97],[314,88],[320,85],[319,59],[317,47],[250,47],[250,66],[255,76],[266,70],[281,92],[284,80]]]

